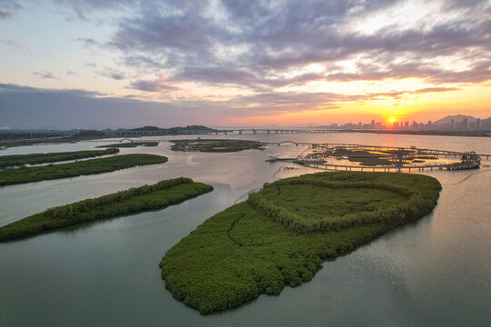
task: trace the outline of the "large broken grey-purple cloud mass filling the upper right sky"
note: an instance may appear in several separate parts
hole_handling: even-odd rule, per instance
[[[487,70],[471,67],[454,71],[431,64],[437,57],[476,62],[489,59],[489,2],[447,0],[436,5],[436,13],[413,25],[382,24],[373,34],[352,28],[358,21],[390,15],[394,8],[411,3],[144,2],[138,15],[121,20],[108,45],[121,50],[126,64],[160,70],[169,81],[235,84],[253,91],[318,80],[419,77],[443,84],[490,79]],[[411,8],[419,9],[417,4]],[[358,69],[333,69],[345,60],[355,60]],[[326,71],[292,76],[292,71],[308,64],[326,66]]]

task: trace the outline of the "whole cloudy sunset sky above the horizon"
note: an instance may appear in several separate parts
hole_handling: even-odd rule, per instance
[[[491,116],[491,0],[0,0],[0,128]]]

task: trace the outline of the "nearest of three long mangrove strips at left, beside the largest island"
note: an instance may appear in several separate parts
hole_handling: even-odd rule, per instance
[[[77,223],[93,222],[122,214],[163,209],[211,191],[213,191],[213,186],[195,183],[192,179],[185,177],[135,187],[95,199],[57,206],[44,213],[36,213],[15,223],[7,224],[0,227],[0,241],[15,240]]]

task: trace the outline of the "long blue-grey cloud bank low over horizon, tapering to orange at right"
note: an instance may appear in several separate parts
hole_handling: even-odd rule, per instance
[[[406,94],[450,92],[458,88],[424,88],[379,94],[335,94],[328,92],[263,92],[236,96],[227,101],[186,100],[155,102],[131,94],[110,96],[74,89],[42,89],[0,84],[2,124],[13,128],[105,128],[152,124],[226,124],[234,117],[267,116],[311,110],[336,109],[341,104],[401,98]],[[138,98],[139,97],[139,98]]]

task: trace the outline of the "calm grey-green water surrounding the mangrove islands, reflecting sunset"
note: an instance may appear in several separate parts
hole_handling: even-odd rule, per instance
[[[224,137],[224,136],[210,136]],[[389,134],[227,135],[277,142],[381,144],[491,153],[491,140]],[[157,138],[168,140],[165,137]],[[12,148],[0,154],[93,149],[98,143]],[[212,183],[207,193],[161,211],[0,243],[0,326],[486,325],[491,319],[491,168],[427,172],[443,190],[433,213],[354,253],[324,263],[311,282],[203,316],[165,290],[158,263],[205,219],[278,178],[316,170],[265,163],[305,148],[231,154],[174,153],[167,163],[57,181],[0,187],[0,225],[46,208],[179,175]],[[491,162],[484,162],[491,164]],[[296,170],[285,170],[296,167]]]

